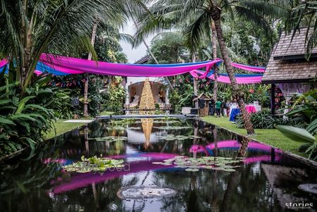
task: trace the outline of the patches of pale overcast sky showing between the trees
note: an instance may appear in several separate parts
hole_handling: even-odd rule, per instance
[[[123,30],[120,30],[122,33],[134,35],[135,34],[135,28],[133,27],[132,22],[129,22]],[[146,39],[146,42],[148,45],[151,43],[151,39],[153,36]],[[139,60],[139,58],[142,58],[147,54],[147,48],[144,46],[144,44],[141,44],[137,49],[132,49],[132,46],[128,44],[127,42],[120,42],[123,52],[127,55],[129,63],[135,63],[135,61]]]

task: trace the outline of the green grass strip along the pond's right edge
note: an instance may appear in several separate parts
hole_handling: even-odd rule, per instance
[[[218,125],[225,129],[231,130],[233,132],[237,132],[241,135],[247,135],[247,131],[244,129],[239,129],[229,121],[229,118],[216,118],[212,116],[206,116],[202,118],[202,120],[207,123],[212,123],[214,125]],[[252,135],[253,139],[258,140],[259,142],[263,142],[266,144],[270,144],[271,146],[275,146],[284,151],[290,151],[299,156],[305,156],[302,152],[297,151],[298,147],[302,145],[302,143],[294,142],[291,139],[288,139],[282,133],[275,129],[256,129],[256,135]]]

